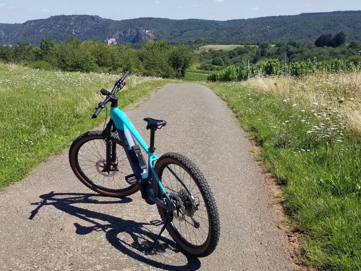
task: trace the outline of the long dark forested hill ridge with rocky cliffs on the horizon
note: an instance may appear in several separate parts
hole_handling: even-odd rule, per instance
[[[39,45],[42,37],[64,41],[69,35],[81,40],[116,38],[135,43],[165,39],[176,43],[199,40],[210,43],[280,41],[317,38],[322,33],[343,31],[347,40],[361,40],[361,10],[302,13],[229,21],[137,18],[115,21],[90,15],[59,15],[22,24],[0,23],[0,43],[28,40]]]

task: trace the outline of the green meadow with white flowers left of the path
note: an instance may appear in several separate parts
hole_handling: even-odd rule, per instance
[[[35,165],[60,153],[78,135],[99,125],[91,119],[102,87],[118,75],[44,71],[0,64],[0,189],[21,180]],[[171,80],[128,77],[119,108]]]

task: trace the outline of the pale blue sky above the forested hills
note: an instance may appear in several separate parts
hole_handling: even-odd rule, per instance
[[[293,3],[291,3],[293,2]],[[361,9],[358,0],[0,0],[0,22],[25,22],[59,14],[89,14],[122,20],[138,17],[231,20],[302,12]]]

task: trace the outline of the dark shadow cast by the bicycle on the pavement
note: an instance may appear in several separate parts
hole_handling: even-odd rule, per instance
[[[78,223],[74,223],[76,228],[75,233],[79,235],[85,235],[93,231],[103,231],[105,233],[106,239],[109,241],[114,248],[118,249],[122,253],[133,257],[134,259],[148,264],[156,268],[162,268],[170,271],[177,270],[198,270],[201,266],[201,263],[198,258],[191,257],[189,255],[182,254],[186,258],[186,264],[182,266],[174,266],[166,263],[160,263],[151,259],[154,257],[154,254],[165,253],[166,250],[172,250],[175,253],[181,253],[176,248],[177,244],[165,237],[160,237],[155,248],[153,249],[152,255],[146,257],[144,253],[149,249],[149,246],[152,244],[152,241],[155,240],[158,231],[151,232],[145,226],[147,225],[162,225],[162,221],[155,220],[150,221],[149,223],[139,223],[133,220],[125,220],[112,215],[102,214],[100,212],[90,211],[84,208],[73,206],[76,203],[87,203],[87,204],[114,204],[114,203],[129,203],[132,199],[123,197],[119,198],[116,201],[99,201],[92,197],[102,197],[99,194],[90,194],[90,193],[54,193],[50,192],[48,194],[43,194],[39,196],[42,201],[31,203],[31,205],[38,205],[33,211],[29,219],[34,219],[39,209],[44,205],[53,205],[57,209],[66,212],[70,215],[73,215],[77,218],[80,218],[88,223],[94,224],[93,226],[82,226]],[[104,223],[99,223],[96,220],[104,221]],[[131,236],[132,242],[125,242],[124,240],[119,239],[117,236],[119,233],[125,232]],[[135,251],[134,251],[135,250]],[[184,257],[182,261],[184,262]],[[177,262],[177,261],[172,261]]]

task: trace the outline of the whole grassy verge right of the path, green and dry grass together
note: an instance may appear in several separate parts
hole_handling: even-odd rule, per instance
[[[305,236],[305,263],[361,270],[360,74],[204,85],[262,147],[262,163]]]

